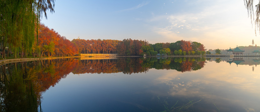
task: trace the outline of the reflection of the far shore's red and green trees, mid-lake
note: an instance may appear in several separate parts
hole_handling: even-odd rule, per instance
[[[180,72],[199,70],[204,67],[204,57],[177,58],[118,58],[118,59],[80,59],[74,74],[82,73],[116,73],[124,74],[147,72],[151,68],[172,69]]]

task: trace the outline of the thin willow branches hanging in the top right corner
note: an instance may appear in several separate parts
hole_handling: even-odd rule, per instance
[[[259,30],[260,33],[260,0],[256,5],[254,5],[254,0],[244,0],[245,7],[247,8],[248,17],[251,19],[251,23],[255,24],[255,34],[256,30]],[[254,12],[254,7],[256,8],[256,11]],[[255,14],[255,17],[254,17]]]

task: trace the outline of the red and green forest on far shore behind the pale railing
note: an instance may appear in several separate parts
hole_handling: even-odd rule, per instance
[[[204,55],[205,47],[198,42],[180,40],[175,43],[149,44],[146,40],[84,40],[73,39],[81,54],[118,54],[124,56]]]

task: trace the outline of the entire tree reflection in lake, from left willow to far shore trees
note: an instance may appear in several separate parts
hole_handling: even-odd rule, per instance
[[[0,67],[1,111],[41,111],[42,93],[55,86],[70,72],[132,74],[149,69],[174,69],[180,72],[204,67],[205,58],[117,58],[53,59],[9,63]]]

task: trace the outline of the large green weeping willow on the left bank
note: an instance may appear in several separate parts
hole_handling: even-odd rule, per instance
[[[35,30],[38,40],[38,27],[42,13],[47,19],[46,11],[54,12],[54,0],[0,0],[0,7],[2,58],[6,58],[6,47],[14,51],[15,58],[18,51],[21,52],[21,58],[23,53],[25,56],[27,52],[31,54],[35,42]]]

